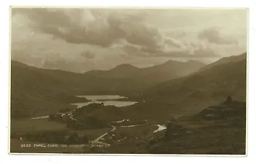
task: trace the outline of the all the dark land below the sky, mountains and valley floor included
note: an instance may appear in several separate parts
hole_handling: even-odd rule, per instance
[[[245,154],[246,54],[87,73],[12,61],[11,94],[12,153]]]

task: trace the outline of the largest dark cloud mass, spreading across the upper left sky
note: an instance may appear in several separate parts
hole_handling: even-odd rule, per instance
[[[16,8],[13,12],[25,14],[32,21],[34,29],[69,43],[109,47],[114,41],[124,39],[132,44],[157,47],[157,40],[161,38],[156,28],[138,22],[143,18],[134,19],[134,14],[100,14],[97,10],[47,8]]]

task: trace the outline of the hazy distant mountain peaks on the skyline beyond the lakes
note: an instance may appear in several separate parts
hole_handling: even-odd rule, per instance
[[[189,73],[198,71],[202,66],[205,66],[205,64],[193,60],[188,62],[168,60],[163,64],[146,68],[138,68],[131,64],[120,64],[111,70],[92,70],[84,73],[84,75],[102,78],[132,78],[156,83],[189,75]]]

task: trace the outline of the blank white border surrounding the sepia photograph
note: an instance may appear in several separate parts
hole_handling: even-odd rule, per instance
[[[244,163],[244,162],[252,162],[252,159],[254,158],[253,156],[253,150],[255,149],[254,147],[254,140],[255,140],[255,132],[254,132],[254,127],[253,125],[253,121],[255,120],[253,118],[254,114],[255,114],[255,110],[253,109],[254,105],[254,101],[253,101],[253,93],[255,93],[255,76],[253,76],[253,66],[255,66],[255,64],[253,65],[253,61],[255,61],[255,45],[253,43],[255,43],[255,3],[253,3],[252,1],[223,1],[223,0],[214,0],[214,1],[199,1],[199,0],[193,0],[193,1],[184,1],[184,0],[179,0],[179,1],[175,1],[175,2],[167,2],[165,1],[160,1],[160,0],[154,0],[154,1],[138,1],[138,0],[129,0],[129,1],[99,1],[99,0],[93,0],[93,1],[86,1],[86,3],[82,3],[81,1],[77,1],[77,0],[72,0],[72,1],[52,1],[52,0],[44,0],[44,1],[8,1],[8,2],[3,2],[1,3],[1,20],[2,20],[2,24],[1,24],[1,58],[0,58],[0,71],[1,71],[1,89],[0,89],[0,93],[1,93],[1,98],[0,98],[0,104],[1,104],[1,112],[3,112],[3,116],[1,117],[1,128],[3,127],[3,129],[1,129],[1,131],[4,131],[6,133],[1,134],[1,154],[4,154],[4,158],[7,158],[8,161],[11,160],[13,162],[23,162],[24,163],[45,163],[46,161],[48,162],[52,162],[55,161],[54,163],[56,163],[56,160],[58,160],[58,162],[67,162],[67,163],[74,163],[74,162],[79,162],[80,160],[83,161],[84,163],[88,163],[88,162],[95,162],[95,161],[99,161],[100,163],[133,163],[138,162],[138,163],[145,163],[145,162],[149,162],[149,163],[160,163],[163,162],[162,160],[168,160],[166,162],[170,163],[170,162],[196,162],[196,163],[200,163],[200,162],[204,162],[207,160],[207,163],[216,163],[216,162],[221,162],[221,163],[225,163],[227,161],[230,160],[230,162],[232,163]],[[146,5],[145,5],[146,4]],[[254,4],[254,5],[253,5]],[[148,7],[159,7],[159,6],[180,6],[182,8],[185,7],[234,7],[234,8],[248,8],[250,7],[250,30],[248,31],[248,33],[250,33],[250,35],[248,35],[248,39],[250,40],[250,43],[248,43],[249,46],[249,57],[248,57],[248,73],[249,73],[249,77],[248,77],[248,88],[250,88],[250,90],[248,90],[248,128],[250,130],[250,132],[248,133],[248,156],[247,158],[234,158],[232,157],[202,157],[202,155],[200,155],[201,157],[198,156],[189,156],[189,157],[180,157],[180,156],[172,156],[171,158],[169,156],[129,156],[129,158],[125,159],[125,156],[78,156],[78,155],[74,155],[74,156],[59,156],[59,155],[54,155],[54,156],[45,156],[45,155],[8,155],[8,142],[6,142],[6,139],[8,139],[8,104],[9,104],[9,96],[8,96],[8,91],[10,89],[9,87],[9,71],[8,71],[8,64],[9,64],[9,56],[8,56],[8,52],[9,52],[9,6],[20,6],[20,5],[26,5],[26,6],[148,6]],[[253,20],[254,18],[254,20]],[[254,37],[253,37],[254,36]],[[253,114],[254,113],[254,114]],[[3,151],[3,152],[2,152]],[[7,156],[6,156],[7,155]],[[112,154],[111,154],[112,155]],[[3,157],[3,156],[2,156]],[[1,158],[1,160],[5,161],[4,158]],[[250,160],[249,160],[250,159]],[[79,161],[77,161],[79,160]],[[80,162],[81,162],[80,161]]]

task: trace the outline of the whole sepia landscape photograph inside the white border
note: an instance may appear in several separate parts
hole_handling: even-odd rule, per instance
[[[246,156],[248,8],[10,8],[10,154]]]

